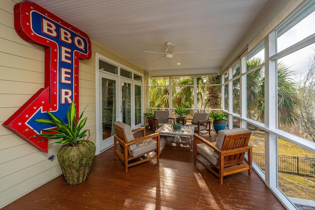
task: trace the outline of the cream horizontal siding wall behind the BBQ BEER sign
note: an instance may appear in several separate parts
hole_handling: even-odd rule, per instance
[[[0,3],[1,124],[44,87],[44,48],[23,40],[15,31],[13,6],[16,2],[20,1],[1,0]],[[79,113],[86,107],[85,129],[90,129],[90,139],[96,144],[95,51],[130,68],[135,66],[94,42],[92,58],[79,61]],[[61,147],[51,145],[53,142],[48,141],[48,153],[41,152],[0,126],[0,208],[62,173],[57,157],[48,160]]]

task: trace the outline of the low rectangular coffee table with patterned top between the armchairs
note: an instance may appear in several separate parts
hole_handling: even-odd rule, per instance
[[[192,151],[193,148],[193,133],[195,127],[183,125],[181,129],[174,129],[173,124],[165,124],[158,128],[155,132],[158,132],[161,136],[179,136],[179,137],[186,137],[190,139],[190,146],[189,149]]]

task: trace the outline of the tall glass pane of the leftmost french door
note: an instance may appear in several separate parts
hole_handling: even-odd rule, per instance
[[[115,134],[116,81],[102,78],[102,127],[103,139]]]

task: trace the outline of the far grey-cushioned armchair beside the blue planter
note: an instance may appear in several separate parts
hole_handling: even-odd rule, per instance
[[[188,123],[187,125],[194,126],[195,127],[195,133],[198,133],[200,135],[200,131],[206,130],[210,135],[210,127],[211,127],[211,121],[209,120],[209,113],[199,113],[196,112],[193,114],[192,119],[186,119],[191,120],[191,123]],[[186,123],[185,123],[186,124]],[[206,134],[203,133],[203,134]]]

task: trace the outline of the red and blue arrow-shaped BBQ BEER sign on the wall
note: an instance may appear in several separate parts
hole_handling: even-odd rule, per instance
[[[65,113],[73,100],[79,110],[79,59],[91,58],[91,41],[83,31],[31,1],[14,6],[14,27],[23,39],[45,47],[45,88],[3,125],[38,150],[48,152],[48,141],[38,142],[40,138],[32,136],[40,131],[33,129],[50,129],[53,125],[34,120],[50,119],[46,114],[50,111],[66,122]]]

